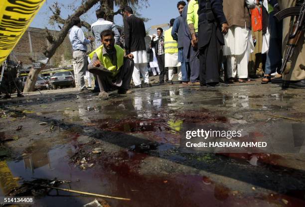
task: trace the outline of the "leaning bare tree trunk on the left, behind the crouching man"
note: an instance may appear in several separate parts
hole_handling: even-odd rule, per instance
[[[103,1],[106,1],[106,0],[103,0]],[[107,1],[109,1],[109,0],[107,0]],[[72,27],[72,21],[71,21],[72,17],[81,16],[82,14],[86,13],[90,8],[92,8],[92,6],[94,6],[98,2],[99,2],[99,0],[87,0],[80,7],[78,7],[78,9],[71,16],[69,16],[68,19],[65,20],[63,27],[61,28],[60,32],[56,35],[54,41],[48,46],[46,51],[44,51],[43,54],[45,55],[45,57],[51,59],[51,57],[54,55],[56,49],[62,44],[62,42],[64,41],[65,37],[67,36],[69,30]],[[112,0],[112,2],[113,2],[113,0]],[[42,69],[44,67],[45,66],[43,66]],[[37,76],[42,69],[33,69],[32,68],[30,70],[30,72],[28,74],[28,78],[26,79],[26,82],[24,85],[23,92],[30,92],[35,89],[35,83],[37,80]]]

